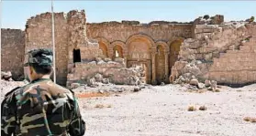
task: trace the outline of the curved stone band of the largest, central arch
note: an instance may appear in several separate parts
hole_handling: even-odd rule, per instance
[[[126,41],[126,46],[128,47],[128,45],[135,39],[148,40],[150,42],[150,48],[156,48],[156,44],[155,44],[154,40],[151,37],[144,35],[144,34],[135,34],[135,35],[128,37],[128,40]]]

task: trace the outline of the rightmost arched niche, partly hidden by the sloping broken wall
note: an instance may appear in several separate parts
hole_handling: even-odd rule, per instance
[[[180,47],[182,45],[183,41],[182,40],[175,40],[173,43],[170,45],[170,74],[171,69],[173,68],[174,63],[177,61],[179,52],[180,52]]]

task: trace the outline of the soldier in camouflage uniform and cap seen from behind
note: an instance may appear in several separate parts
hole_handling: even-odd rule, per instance
[[[1,105],[1,135],[83,136],[85,122],[72,90],[50,79],[51,50],[29,51],[27,61],[25,77],[30,83],[6,94]]]

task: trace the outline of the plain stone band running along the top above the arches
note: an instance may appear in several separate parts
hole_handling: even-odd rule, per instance
[[[126,42],[128,37],[145,34],[155,41],[170,41],[173,37],[192,37],[192,24],[139,24],[123,21],[106,23],[88,23],[88,37],[105,37],[109,42]]]

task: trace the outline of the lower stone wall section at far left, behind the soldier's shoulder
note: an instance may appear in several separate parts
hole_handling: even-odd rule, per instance
[[[21,79],[25,49],[25,33],[19,29],[1,29],[1,68],[11,71],[15,80]]]

